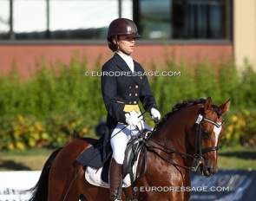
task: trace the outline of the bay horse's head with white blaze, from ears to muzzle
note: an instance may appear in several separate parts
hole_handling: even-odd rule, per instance
[[[219,143],[225,133],[223,113],[228,111],[230,100],[217,107],[211,98],[207,98],[204,107],[200,108],[196,125],[195,149],[201,159],[200,172],[204,177],[212,177],[218,171],[217,157]]]

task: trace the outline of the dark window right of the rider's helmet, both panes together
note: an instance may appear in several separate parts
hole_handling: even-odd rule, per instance
[[[141,0],[142,39],[231,39],[231,0]]]

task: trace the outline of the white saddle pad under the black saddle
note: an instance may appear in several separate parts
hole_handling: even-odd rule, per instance
[[[138,165],[138,161],[135,161],[135,165],[133,166],[134,178],[136,175],[137,165]],[[109,188],[109,184],[102,181],[102,167],[100,169],[95,169],[93,167],[87,166],[85,171],[85,179],[91,185],[96,185],[103,188]],[[126,177],[122,181],[122,187],[128,188],[130,185],[131,185],[130,176],[126,175]]]

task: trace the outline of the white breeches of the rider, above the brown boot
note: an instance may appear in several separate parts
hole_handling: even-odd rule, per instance
[[[123,164],[125,149],[128,145],[128,141],[132,138],[132,136],[136,136],[139,134],[137,128],[135,126],[127,126],[123,124],[117,124],[113,133],[111,134],[110,144],[113,149],[113,158],[116,163]],[[125,127],[125,128],[124,128]],[[144,120],[141,120],[141,124],[138,125],[140,130],[148,129],[152,130],[148,124]],[[121,131],[121,129],[123,129]]]

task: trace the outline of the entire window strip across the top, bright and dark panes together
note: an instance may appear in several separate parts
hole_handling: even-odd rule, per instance
[[[142,40],[232,38],[232,0],[0,0],[0,40],[105,40],[119,16]]]

